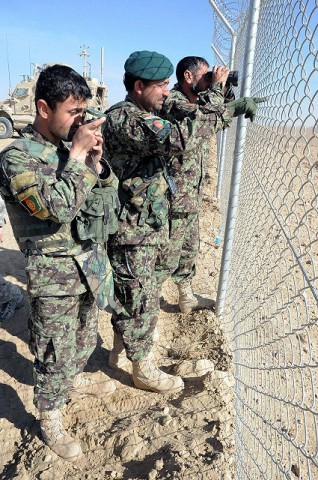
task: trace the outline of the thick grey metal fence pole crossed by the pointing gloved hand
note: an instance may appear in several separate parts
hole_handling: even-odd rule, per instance
[[[251,81],[252,81],[252,73],[253,73],[253,65],[254,65],[254,52],[255,52],[255,46],[256,46],[256,35],[257,35],[258,18],[259,18],[259,12],[260,12],[260,2],[261,0],[252,0],[251,6],[250,6],[250,18],[249,18],[249,25],[248,25],[249,33],[247,34],[246,56],[245,56],[245,66],[244,66],[245,75],[243,78],[242,90],[241,90],[242,96],[249,96],[251,91]],[[246,119],[243,117],[243,115],[240,115],[237,121],[237,135],[236,135],[236,141],[235,141],[234,162],[233,162],[233,170],[232,170],[232,177],[231,177],[229,205],[228,205],[226,227],[225,227],[219,287],[218,287],[218,293],[217,293],[217,299],[216,299],[217,315],[222,315],[223,309],[224,309],[225,297],[226,297],[228,276],[229,276],[231,257],[232,257],[232,246],[233,246],[233,239],[234,239],[236,212],[237,212],[237,206],[238,206],[242,163],[244,159],[245,137],[246,137]]]

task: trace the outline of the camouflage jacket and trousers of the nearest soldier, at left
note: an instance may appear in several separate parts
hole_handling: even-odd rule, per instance
[[[107,273],[92,266],[94,244],[73,237],[72,222],[93,191],[96,175],[68,159],[62,143],[52,145],[31,126],[23,135],[0,154],[0,189],[20,248],[31,245],[23,250],[35,355],[34,403],[39,410],[50,410],[65,403],[74,376],[96,346],[96,292],[88,278],[94,276],[92,284],[99,285]],[[85,261],[92,258],[85,271]]]

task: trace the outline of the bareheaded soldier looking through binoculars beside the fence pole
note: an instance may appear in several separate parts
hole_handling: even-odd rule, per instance
[[[226,99],[232,100],[231,92],[226,92],[229,69],[213,67],[211,77],[207,75],[208,62],[202,57],[185,57],[177,65],[178,83],[165,100],[160,116],[173,122],[182,120],[190,113],[214,112],[224,106]],[[229,97],[231,93],[231,97]],[[253,101],[251,100],[251,103]],[[229,104],[227,104],[229,105]],[[253,112],[256,106],[252,105]],[[227,108],[230,116],[237,115],[233,108]],[[240,113],[246,113],[240,112]],[[177,192],[170,196],[170,237],[161,250],[156,265],[159,285],[172,274],[178,286],[179,308],[189,313],[196,308],[211,306],[205,299],[200,303],[192,291],[192,278],[196,271],[196,258],[199,252],[199,210],[205,176],[205,163],[211,155],[212,137],[228,123],[212,125],[203,142],[194,139],[195,149],[189,154],[171,159],[170,173],[177,185]]]

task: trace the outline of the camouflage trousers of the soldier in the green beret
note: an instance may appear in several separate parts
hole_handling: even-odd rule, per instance
[[[147,356],[153,346],[160,308],[155,275],[159,253],[158,245],[117,244],[108,250],[115,299],[120,308],[119,313],[113,315],[112,324],[122,337],[131,361]]]

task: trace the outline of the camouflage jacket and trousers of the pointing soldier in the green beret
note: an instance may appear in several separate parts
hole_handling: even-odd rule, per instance
[[[112,322],[123,337],[131,360],[145,357],[153,343],[159,308],[156,263],[161,249],[168,243],[168,201],[161,202],[161,208],[167,212],[166,224],[160,229],[146,222],[140,225],[140,212],[121,195],[123,183],[136,177],[153,176],[158,157],[169,159],[173,155],[194,154],[211,131],[229,122],[230,116],[223,106],[214,105],[212,110],[201,112],[191,105],[171,123],[169,119],[141,111],[129,96],[106,114],[104,145],[119,180],[122,208],[118,233],[108,246],[115,297],[122,309],[113,316]]]

